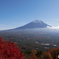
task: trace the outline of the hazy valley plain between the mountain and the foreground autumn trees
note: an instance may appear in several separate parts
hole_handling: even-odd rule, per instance
[[[59,47],[58,33],[45,33],[41,31],[15,31],[0,32],[0,37],[16,43],[23,50],[42,50]]]

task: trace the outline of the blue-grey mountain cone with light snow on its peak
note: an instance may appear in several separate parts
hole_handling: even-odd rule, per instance
[[[32,21],[22,27],[18,27],[18,28],[15,28],[15,30],[19,30],[19,29],[34,29],[34,28],[46,28],[47,26],[49,26],[48,24],[44,23],[43,21],[41,20],[35,20],[35,21]]]

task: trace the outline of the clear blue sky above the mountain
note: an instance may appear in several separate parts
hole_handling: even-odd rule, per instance
[[[20,27],[36,19],[59,26],[59,0],[0,0],[0,30]]]

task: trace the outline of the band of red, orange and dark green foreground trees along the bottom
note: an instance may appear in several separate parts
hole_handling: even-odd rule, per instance
[[[0,38],[0,59],[59,59],[59,47],[47,51],[24,51],[14,42]]]

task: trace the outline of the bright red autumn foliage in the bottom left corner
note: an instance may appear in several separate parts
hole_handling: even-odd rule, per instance
[[[23,59],[24,54],[13,42],[2,41],[0,38],[0,59]]]

